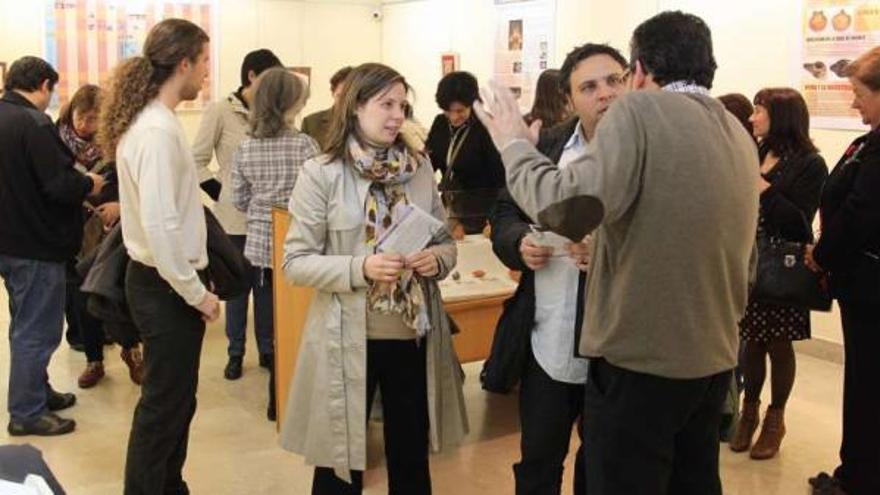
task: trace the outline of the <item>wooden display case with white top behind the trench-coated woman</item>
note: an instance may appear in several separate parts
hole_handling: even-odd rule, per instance
[[[290,222],[286,210],[276,208],[272,211],[275,396],[279,425],[287,406],[303,327],[314,295],[314,289],[294,286],[284,278],[284,238]],[[476,267],[487,272],[479,280],[471,275]],[[492,254],[488,240],[479,236],[469,236],[459,243],[457,269],[460,279],[447,278],[440,287],[446,311],[461,330],[453,339],[455,349],[462,362],[481,361],[489,355],[502,303],[513,293],[516,284]]]

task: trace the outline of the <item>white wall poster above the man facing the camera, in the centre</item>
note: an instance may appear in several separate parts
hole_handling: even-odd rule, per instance
[[[528,112],[538,76],[553,67],[556,0],[495,0],[498,19],[493,78]]]

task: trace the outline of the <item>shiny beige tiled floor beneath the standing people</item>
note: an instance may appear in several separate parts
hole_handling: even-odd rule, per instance
[[[0,290],[0,409],[5,413],[9,372],[6,339],[9,316],[6,293]],[[252,338],[250,340],[253,340]],[[249,348],[245,375],[237,382],[223,379],[225,343],[222,324],[209,328],[202,357],[199,410],[189,444],[185,476],[195,494],[308,494],[311,470],[302,459],[277,446],[274,425],[265,419],[268,374],[257,367]],[[249,346],[252,342],[249,342]],[[106,348],[107,378],[91,390],[77,391],[78,404],[65,411],[77,420],[77,431],[57,438],[11,439],[0,430],[0,444],[29,442],[44,452],[58,479],[72,495],[121,493],[125,445],[138,388],[125,374],[118,348]],[[50,368],[53,385],[76,389],[84,366],[82,354],[66,344]],[[434,493],[494,495],[513,493],[511,464],[518,458],[516,401],[490,395],[477,383],[478,365],[466,366],[465,397],[471,434],[454,452],[432,458]],[[788,408],[781,454],[755,462],[721,447],[724,490],[729,495],[800,495],[806,478],[834,466],[840,434],[842,368],[839,364],[799,355],[798,381]],[[0,415],[5,424],[5,414]],[[373,429],[372,459],[381,456]],[[386,493],[385,473],[367,473],[368,494]],[[571,465],[564,493],[570,492]]]

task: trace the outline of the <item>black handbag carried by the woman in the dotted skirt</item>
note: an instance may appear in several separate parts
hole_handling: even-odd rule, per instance
[[[806,245],[758,236],[758,274],[752,300],[777,306],[831,311],[831,292],[822,274],[804,264]]]

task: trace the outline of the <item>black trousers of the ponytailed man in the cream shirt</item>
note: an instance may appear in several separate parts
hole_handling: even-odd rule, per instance
[[[144,349],[144,380],[134,412],[125,494],[186,494],[181,476],[196,411],[205,322],[159,273],[130,262],[125,295]]]

